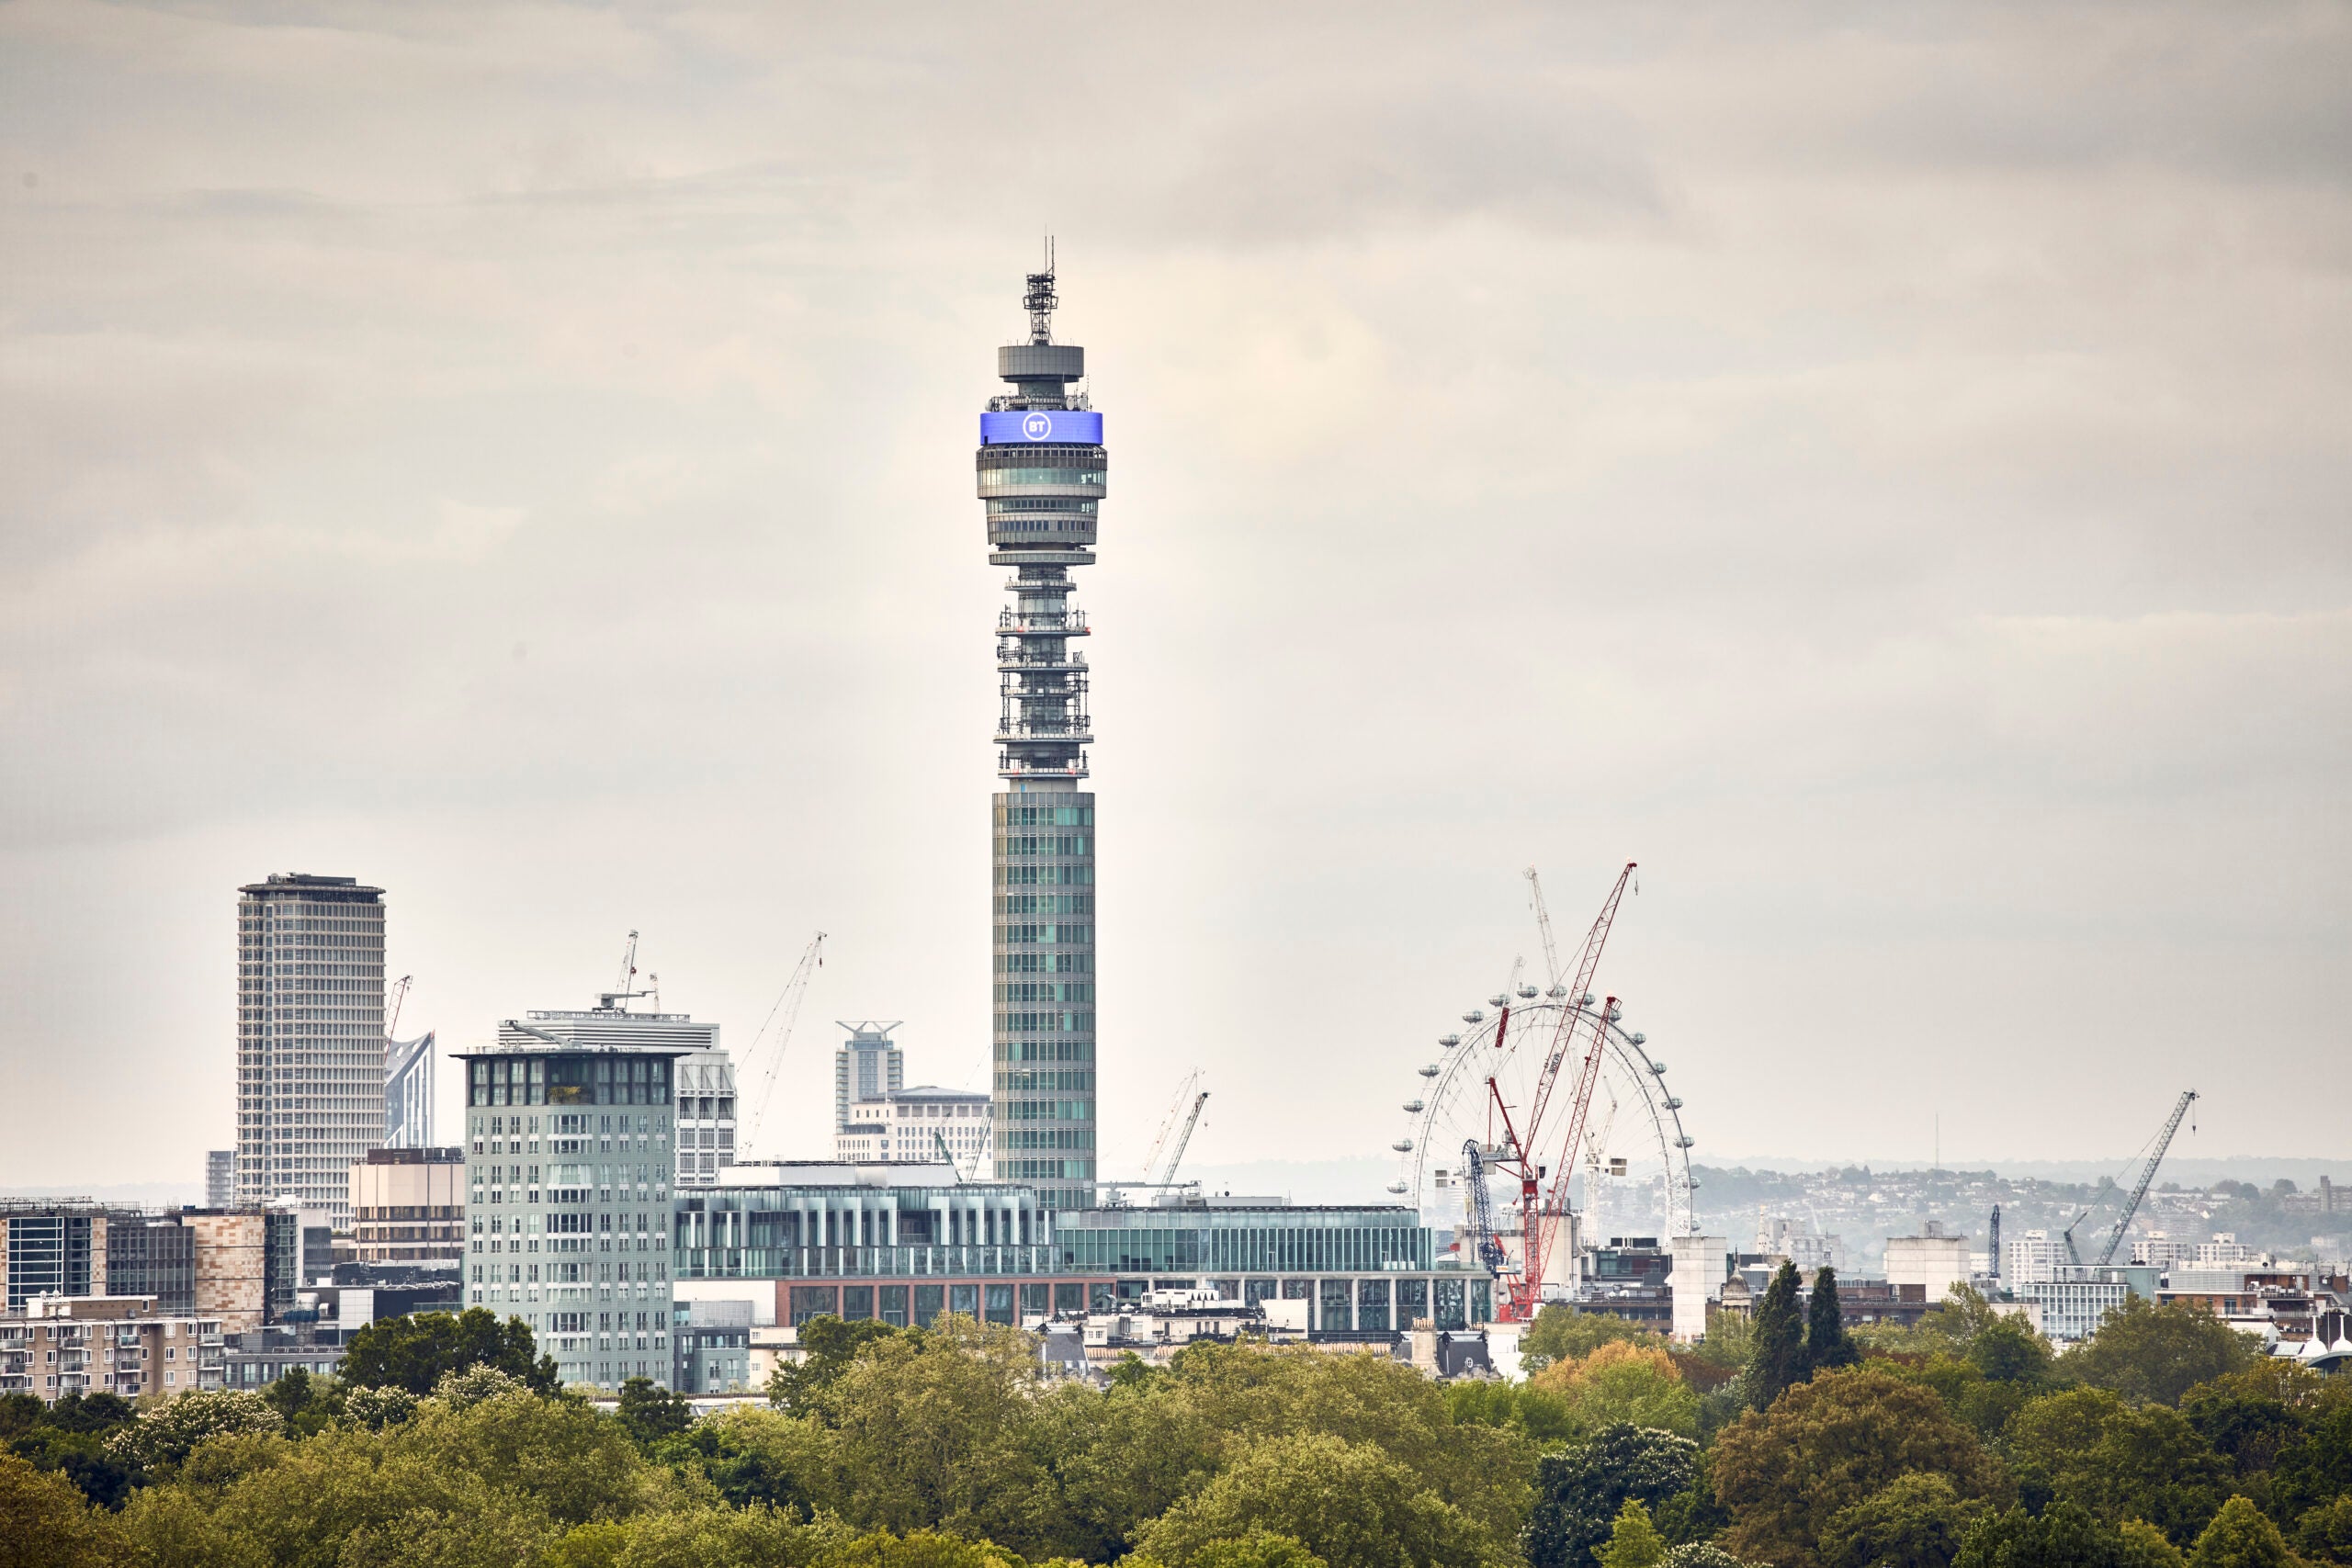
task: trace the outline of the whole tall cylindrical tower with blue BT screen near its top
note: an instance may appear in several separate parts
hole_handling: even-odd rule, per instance
[[[988,562],[1011,567],[997,614],[993,823],[997,1180],[1047,1208],[1094,1206],[1094,795],[1084,790],[1087,614],[1073,567],[1094,564],[1103,505],[1103,416],[1084,390],[1087,350],[1054,341],[1054,261],[1028,275],[1025,343],[997,350],[1009,393],[981,414],[978,489]]]

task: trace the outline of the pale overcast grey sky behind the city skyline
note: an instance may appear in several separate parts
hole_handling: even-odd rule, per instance
[[[1105,1168],[1195,1065],[1202,1161],[1383,1152],[1625,860],[1698,1159],[2352,1157],[2347,82],[2343,5],[0,7],[0,1182],[200,1178],[273,870],[454,1046],[635,926],[741,1048],[828,931],[774,1152],[835,1018],[983,1086],[1047,230]]]

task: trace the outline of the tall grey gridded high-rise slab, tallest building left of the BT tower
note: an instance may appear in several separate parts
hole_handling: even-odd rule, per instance
[[[238,1204],[350,1220],[383,1143],[383,889],[280,872],[238,889]]]

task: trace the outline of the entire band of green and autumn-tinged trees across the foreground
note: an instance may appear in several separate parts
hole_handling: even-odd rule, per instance
[[[395,1319],[339,1380],[0,1399],[0,1568],[2352,1563],[2352,1380],[2192,1309],[2058,1356],[1966,1293],[1849,1335],[1785,1276],[1715,1328],[1548,1309],[1517,1385],[1197,1345],[1094,1389],[1011,1328],[818,1319],[696,1420],[555,1389],[487,1312]]]

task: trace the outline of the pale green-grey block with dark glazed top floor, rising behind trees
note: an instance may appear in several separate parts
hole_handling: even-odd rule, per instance
[[[501,1030],[503,1039],[506,1030]],[[466,1305],[529,1324],[564,1382],[670,1378],[677,1046],[524,1030],[466,1063]]]

